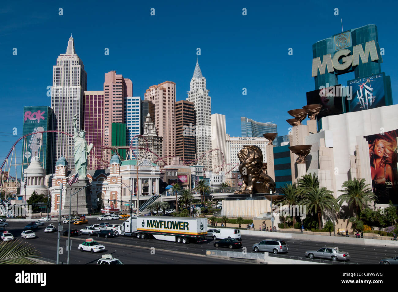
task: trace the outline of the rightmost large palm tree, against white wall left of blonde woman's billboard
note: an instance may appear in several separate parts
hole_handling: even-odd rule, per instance
[[[354,217],[359,218],[361,210],[364,207],[366,208],[369,202],[377,199],[377,196],[373,194],[372,188],[368,188],[368,186],[370,184],[365,184],[364,178],[359,180],[354,178],[353,180],[343,182],[342,187],[344,190],[339,190],[339,192],[343,192],[344,194],[337,198],[339,204],[347,202],[349,207],[353,206]]]

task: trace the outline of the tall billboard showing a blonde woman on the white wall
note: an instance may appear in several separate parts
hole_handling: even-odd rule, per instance
[[[372,188],[379,204],[390,200],[398,204],[397,136],[398,129],[364,137],[369,145]]]

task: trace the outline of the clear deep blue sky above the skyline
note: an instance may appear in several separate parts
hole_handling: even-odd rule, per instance
[[[199,47],[212,113],[226,115],[227,133],[240,136],[240,117],[246,116],[275,122],[279,135],[286,135],[287,111],[306,105],[306,92],[315,89],[312,44],[341,32],[341,18],[344,31],[376,24],[385,50],[382,71],[391,76],[397,103],[394,1],[82,2],[2,4],[0,161],[21,136],[23,106],[50,106],[52,68],[66,52],[71,33],[87,72],[88,90],[103,90],[104,73],[115,70],[133,81],[134,96],[143,98],[149,86],[170,80],[176,82],[177,100],[185,99]],[[247,16],[242,16],[242,8]],[[289,48],[293,55],[288,55]],[[353,73],[345,80],[351,78]],[[247,96],[242,95],[243,87]],[[18,129],[16,136],[13,127]]]

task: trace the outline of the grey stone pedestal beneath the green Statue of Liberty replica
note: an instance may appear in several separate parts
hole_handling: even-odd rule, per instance
[[[78,182],[69,186],[66,184],[66,197],[65,197],[65,204],[62,207],[62,215],[69,215],[69,206],[71,207],[70,213],[71,216],[87,214],[90,211],[91,206],[91,195],[90,195],[90,188],[84,188],[85,186],[89,185],[89,180],[86,179],[79,179]],[[70,195],[74,192],[78,192],[72,196],[72,201],[70,201]]]

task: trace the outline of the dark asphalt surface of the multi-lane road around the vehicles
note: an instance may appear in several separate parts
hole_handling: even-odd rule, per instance
[[[84,226],[88,226],[94,223],[98,223],[95,218],[88,219],[89,223],[85,225],[73,225],[73,228],[81,229]],[[108,221],[109,223],[121,223],[123,220]],[[57,225],[57,221],[52,221],[54,225]],[[23,227],[26,222],[10,222],[10,226],[7,229],[16,238],[20,238],[20,234],[23,231]],[[48,223],[49,224],[49,223]],[[45,227],[48,225],[47,222],[44,226],[39,227],[35,231],[37,238],[28,239],[29,243],[37,247],[41,251],[42,256],[47,259],[56,259],[57,249],[57,233],[44,233]],[[68,228],[67,224],[62,224],[64,229]],[[72,226],[71,226],[72,228]],[[70,251],[70,263],[71,264],[95,264],[96,261],[101,257],[101,254],[91,254],[89,252],[81,252],[77,249],[78,245],[85,241],[86,238],[90,238],[86,235],[79,235],[71,237],[72,248]],[[68,237],[61,236],[60,246],[63,247],[63,255],[60,255],[60,261],[66,263],[66,241]],[[104,237],[97,238],[96,241],[100,242],[105,246],[106,253],[111,253],[113,257],[120,259],[125,264],[244,264],[247,262],[242,261],[231,261],[224,259],[215,259],[212,257],[206,257],[206,249],[215,250],[229,250],[228,248],[213,246],[213,239],[208,237],[207,243],[196,244],[180,244],[170,241],[161,241],[156,239],[137,239],[135,237],[124,237],[119,236],[115,238]],[[97,240],[98,239],[98,240]],[[252,252],[252,245],[263,240],[263,237],[254,236],[242,236],[243,247],[246,247],[247,252]],[[24,240],[24,239],[22,239]],[[304,259],[309,261],[308,258],[304,258],[304,252],[307,250],[317,250],[320,247],[331,246],[330,243],[322,243],[310,240],[287,240],[289,247],[288,253],[279,254],[278,257],[289,257],[292,259]],[[334,245],[336,246],[336,245]],[[398,243],[397,248],[391,247],[371,247],[369,245],[337,245],[340,251],[349,252],[351,260],[347,263],[350,264],[378,264],[381,258],[392,257],[398,254]],[[151,249],[152,248],[152,249]],[[151,254],[152,251],[152,254]],[[153,254],[154,253],[154,254]],[[274,256],[274,255],[271,255]],[[331,261],[324,261],[315,259],[314,261],[322,263],[331,263]],[[336,264],[336,263],[334,263]],[[338,262],[338,264],[344,264],[344,262]]]

